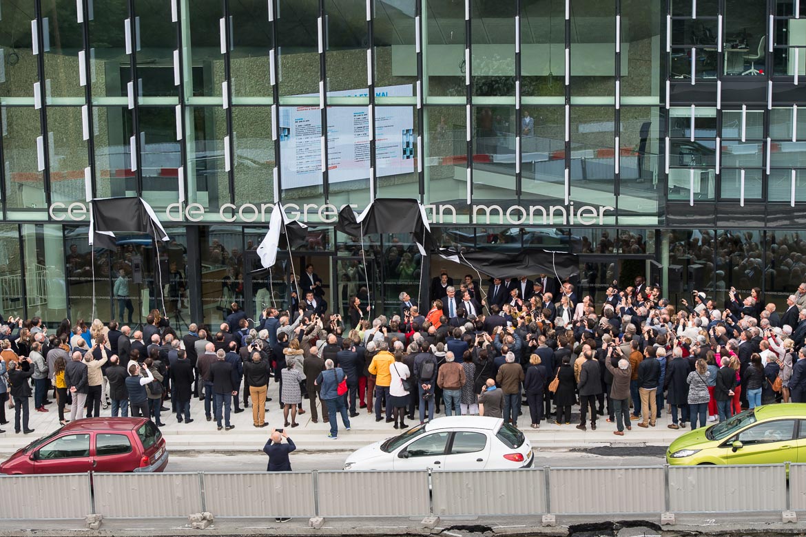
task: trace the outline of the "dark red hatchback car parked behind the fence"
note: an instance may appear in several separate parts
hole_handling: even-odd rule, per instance
[[[162,472],[168,450],[147,418],[77,419],[34,440],[0,464],[0,473]]]

